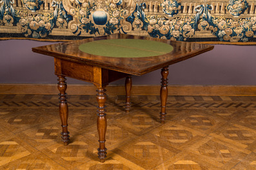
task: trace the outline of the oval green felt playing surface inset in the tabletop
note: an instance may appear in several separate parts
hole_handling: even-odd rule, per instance
[[[79,49],[90,55],[121,58],[158,56],[173,51],[170,44],[141,39],[96,40],[81,44]]]

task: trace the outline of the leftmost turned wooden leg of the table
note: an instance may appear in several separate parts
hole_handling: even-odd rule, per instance
[[[61,117],[61,126],[63,128],[62,141],[64,145],[68,145],[69,132],[68,132],[68,102],[66,101],[66,78],[64,76],[58,76],[59,83],[59,116]]]

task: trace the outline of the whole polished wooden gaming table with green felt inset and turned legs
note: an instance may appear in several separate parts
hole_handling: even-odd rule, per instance
[[[33,47],[32,51],[54,56],[55,74],[58,76],[59,115],[63,127],[62,140],[68,144],[68,103],[66,78],[94,83],[97,87],[97,130],[99,133],[98,155],[101,162],[106,158],[106,90],[108,83],[126,77],[126,111],[130,109],[131,75],[141,76],[161,69],[161,123],[166,115],[168,96],[168,65],[181,62],[213,49],[213,46],[190,42],[177,42],[159,38],[113,34],[103,37],[74,40],[60,44]]]

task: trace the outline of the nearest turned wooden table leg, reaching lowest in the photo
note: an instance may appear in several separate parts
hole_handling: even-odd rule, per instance
[[[97,130],[99,133],[99,149],[98,149],[98,155],[103,163],[106,158],[106,148],[105,148],[105,135],[106,135],[106,106],[104,106],[104,103],[106,101],[106,94],[104,87],[98,87],[97,88],[97,101],[98,101],[98,110],[97,110]]]

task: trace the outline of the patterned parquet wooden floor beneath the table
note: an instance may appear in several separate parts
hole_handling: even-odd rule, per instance
[[[0,169],[256,169],[256,97],[108,96],[108,158],[97,158],[95,96],[68,96],[63,146],[58,96],[0,95]]]

